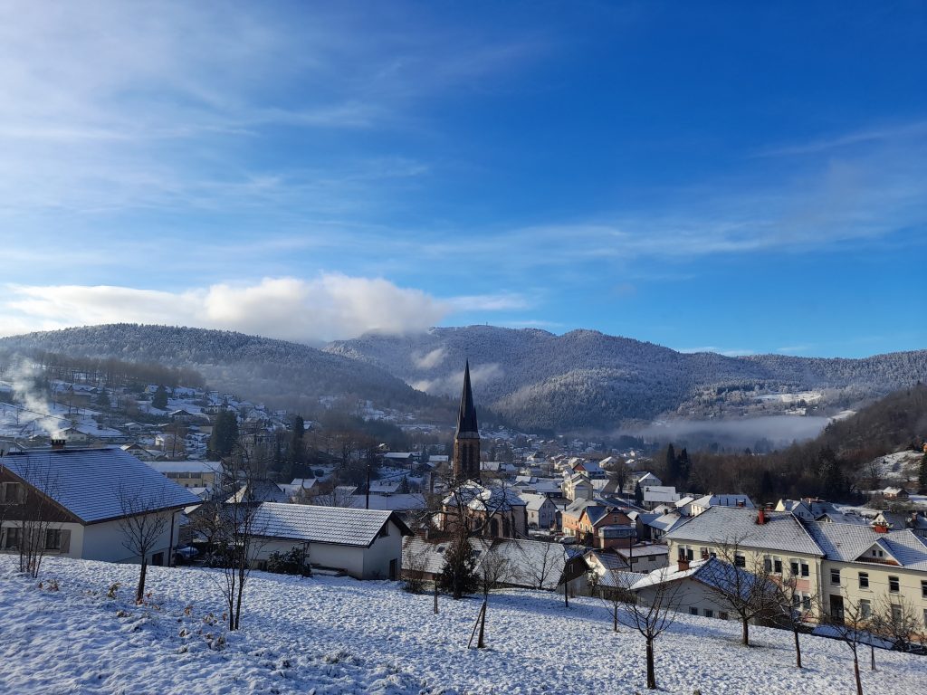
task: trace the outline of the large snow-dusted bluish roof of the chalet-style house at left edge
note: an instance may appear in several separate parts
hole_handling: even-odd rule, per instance
[[[125,516],[125,508],[180,509],[200,501],[122,449],[43,449],[10,453],[0,466],[44,490],[84,524]],[[49,484],[45,484],[48,481]],[[138,501],[122,503],[126,499]]]

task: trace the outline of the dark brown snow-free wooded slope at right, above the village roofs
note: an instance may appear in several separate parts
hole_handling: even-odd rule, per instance
[[[745,493],[757,502],[820,497],[857,501],[871,484],[866,463],[927,439],[927,385],[921,383],[872,403],[825,428],[816,438],[764,455],[689,452],[672,445],[655,461],[666,485],[705,493]],[[682,454],[685,460],[682,461]]]

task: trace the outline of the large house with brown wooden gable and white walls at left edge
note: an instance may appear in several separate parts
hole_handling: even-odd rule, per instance
[[[181,511],[200,501],[121,449],[10,453],[0,458],[0,481],[0,550],[18,551],[29,529],[41,528],[46,554],[83,560],[141,562],[123,545],[121,524],[150,518],[163,530],[146,560],[168,564]]]

